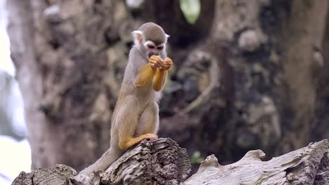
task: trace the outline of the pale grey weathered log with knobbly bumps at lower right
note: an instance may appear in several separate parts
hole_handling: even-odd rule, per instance
[[[248,151],[238,162],[219,165],[215,156],[208,156],[188,184],[328,184],[329,141],[309,146],[283,156],[262,161],[261,150]],[[324,170],[325,169],[325,170]]]

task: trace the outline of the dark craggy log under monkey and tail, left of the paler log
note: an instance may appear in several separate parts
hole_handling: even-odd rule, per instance
[[[65,172],[65,173],[64,173]],[[179,184],[187,179],[191,163],[186,149],[169,138],[144,140],[129,149],[108,170],[96,171],[91,177],[76,174],[65,165],[51,169],[21,172],[13,184]],[[42,177],[42,178],[40,178]]]

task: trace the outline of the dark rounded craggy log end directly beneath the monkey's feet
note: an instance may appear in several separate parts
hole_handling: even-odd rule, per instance
[[[113,163],[102,179],[112,184],[182,182],[191,172],[186,149],[170,138],[143,140]]]

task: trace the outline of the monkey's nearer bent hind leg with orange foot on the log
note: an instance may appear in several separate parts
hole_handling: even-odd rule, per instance
[[[141,142],[143,139],[157,139],[157,135],[146,134],[134,137],[138,125],[138,102],[134,97],[126,97],[122,107],[117,111],[116,123],[118,124],[119,146],[125,149]]]

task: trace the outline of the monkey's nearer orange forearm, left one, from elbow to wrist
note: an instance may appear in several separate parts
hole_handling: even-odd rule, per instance
[[[150,83],[155,76],[155,70],[150,66],[150,64],[146,64],[144,67],[139,70],[136,79],[135,86],[137,88],[141,88],[148,83]]]

